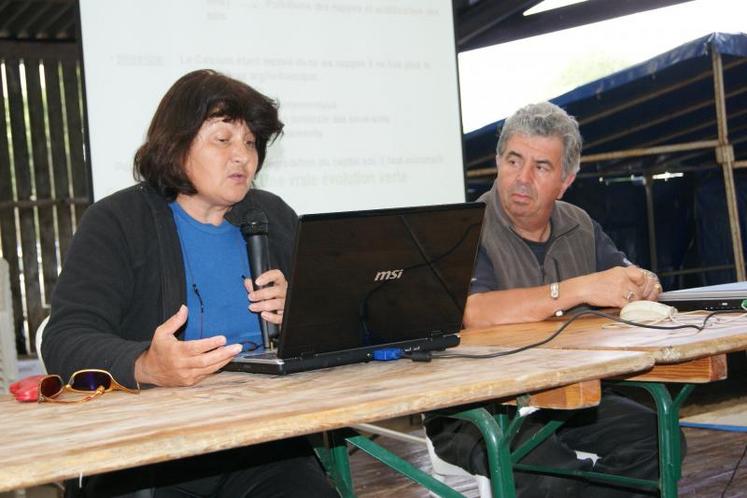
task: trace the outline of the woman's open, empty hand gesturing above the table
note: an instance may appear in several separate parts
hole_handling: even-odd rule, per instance
[[[135,361],[135,380],[156,386],[192,386],[241,352],[241,344],[225,346],[224,336],[178,340],[174,334],[186,321],[187,307],[182,305],[158,326],[150,347]]]

